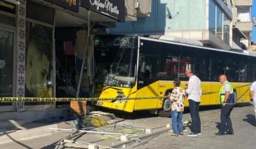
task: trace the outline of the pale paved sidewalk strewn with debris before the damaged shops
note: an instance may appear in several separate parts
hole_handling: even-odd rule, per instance
[[[120,141],[120,135],[114,135],[115,137],[118,137],[118,139],[113,139],[113,135],[110,135],[109,137],[108,135],[85,133],[78,139],[75,139],[75,141],[83,141],[84,143],[92,143],[112,148],[122,148],[133,144],[136,141],[143,141],[150,137],[167,133],[168,130],[170,130],[170,128],[166,128],[166,124],[170,123],[170,118],[153,117],[153,119],[154,120],[152,120],[152,117],[126,119],[122,122],[107,126],[108,128],[116,129],[120,126],[136,126],[136,128],[144,128],[144,132],[139,133],[133,133],[128,129],[126,130],[127,132],[130,131],[133,133],[133,135],[138,135],[136,139],[130,138],[127,141]],[[8,146],[10,148],[22,148],[25,146],[30,146],[29,148],[42,148],[43,146],[48,146],[47,148],[55,148],[58,141],[75,133],[75,131],[70,131],[74,130],[71,122],[58,122],[56,124],[27,123],[23,128],[25,129],[0,133],[0,146]],[[53,130],[49,128],[67,130]],[[146,133],[146,130],[148,133]],[[40,143],[33,144],[38,140],[40,140]]]

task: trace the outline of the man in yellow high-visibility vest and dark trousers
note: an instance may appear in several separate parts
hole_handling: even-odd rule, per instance
[[[227,76],[225,75],[220,75],[220,83],[223,84],[220,88],[220,103],[222,104],[220,112],[220,130],[218,133],[215,133],[215,135],[234,135],[230,119],[231,111],[235,105],[233,87],[227,81]],[[225,133],[226,126],[227,132]]]

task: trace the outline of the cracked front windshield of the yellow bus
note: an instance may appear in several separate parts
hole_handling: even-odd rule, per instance
[[[137,40],[124,36],[116,38],[114,43],[119,49],[110,65],[110,72],[105,77],[105,86],[133,87],[136,73]]]

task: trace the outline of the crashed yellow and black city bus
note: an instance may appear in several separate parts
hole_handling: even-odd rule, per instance
[[[94,49],[99,54],[96,71],[97,97],[129,97],[131,100],[99,100],[97,106],[126,112],[150,110],[163,117],[165,98],[173,89],[173,79],[185,87],[186,69],[201,80],[200,106],[220,104],[218,76],[225,74],[233,85],[237,103],[250,102],[249,87],[256,79],[256,54],[248,51],[224,51],[199,45],[157,40],[139,36],[97,36]],[[107,62],[106,62],[107,60]],[[106,62],[106,63],[105,63]],[[97,78],[97,77],[96,77]],[[102,85],[103,84],[103,85]],[[150,98],[149,98],[150,97]],[[155,97],[155,98],[151,98]],[[138,99],[136,99],[138,98]],[[188,106],[188,100],[185,100]]]

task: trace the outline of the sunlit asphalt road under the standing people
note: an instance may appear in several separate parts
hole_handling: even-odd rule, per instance
[[[151,138],[142,143],[133,144],[128,148],[256,148],[256,120],[253,106],[239,106],[233,109],[231,120],[235,135],[216,136],[220,124],[220,109],[207,108],[200,111],[202,135],[197,137],[188,137],[190,129],[186,128],[185,135],[178,137],[171,136],[170,132]],[[185,113],[184,117],[188,118],[189,113]]]

